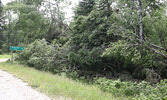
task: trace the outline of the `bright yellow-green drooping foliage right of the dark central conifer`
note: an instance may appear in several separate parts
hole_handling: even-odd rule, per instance
[[[133,72],[140,56],[139,51],[126,41],[111,42],[110,47],[106,48],[106,51],[101,55],[117,67],[121,67],[120,70],[124,69],[129,72]]]

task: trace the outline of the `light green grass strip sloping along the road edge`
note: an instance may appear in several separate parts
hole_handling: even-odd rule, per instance
[[[87,85],[65,76],[53,75],[19,64],[0,63],[0,69],[16,75],[52,98],[63,96],[75,100],[125,100],[124,97],[115,97],[110,93],[105,93],[95,85]]]

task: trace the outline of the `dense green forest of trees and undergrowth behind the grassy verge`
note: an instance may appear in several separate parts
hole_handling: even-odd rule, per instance
[[[1,0],[0,0],[1,3]],[[134,100],[167,100],[166,0],[65,0],[0,5],[0,53]]]

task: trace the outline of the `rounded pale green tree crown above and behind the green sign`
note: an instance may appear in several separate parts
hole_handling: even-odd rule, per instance
[[[7,38],[4,40],[6,45],[29,44],[46,36],[48,20],[37,8],[21,2],[11,2],[5,6],[4,11],[9,21],[3,33],[4,38]]]

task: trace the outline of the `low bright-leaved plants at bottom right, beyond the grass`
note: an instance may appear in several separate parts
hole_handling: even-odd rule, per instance
[[[133,100],[167,100],[167,80],[162,80],[154,86],[146,81],[141,83],[121,82],[106,78],[96,79],[95,83],[104,91],[115,95],[130,96]]]

